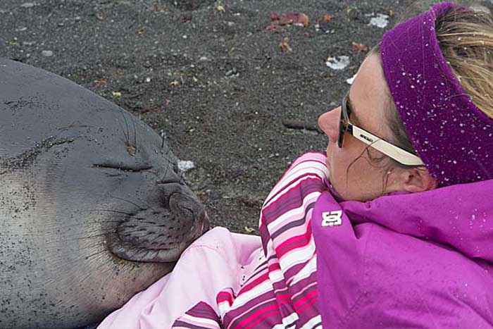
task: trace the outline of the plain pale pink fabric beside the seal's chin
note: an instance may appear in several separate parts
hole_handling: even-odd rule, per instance
[[[183,252],[172,273],[132,297],[98,329],[171,328],[198,301],[213,306],[220,290],[225,287],[239,290],[245,274],[258,265],[261,253],[260,237],[213,228]],[[213,275],[204,280],[204,273]]]

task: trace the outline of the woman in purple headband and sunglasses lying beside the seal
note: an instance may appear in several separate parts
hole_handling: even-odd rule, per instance
[[[490,51],[492,18],[453,4],[394,27],[261,239],[211,230],[100,328],[491,328]]]

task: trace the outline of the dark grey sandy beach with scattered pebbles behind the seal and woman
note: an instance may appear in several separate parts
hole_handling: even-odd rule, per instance
[[[67,77],[164,132],[192,161],[185,178],[212,223],[255,234],[289,163],[325,150],[316,120],[339,104],[365,46],[430,2],[2,0],[0,56]]]

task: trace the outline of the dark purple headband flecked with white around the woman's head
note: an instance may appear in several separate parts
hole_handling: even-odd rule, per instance
[[[454,6],[433,6],[386,32],[381,43],[385,79],[406,132],[442,187],[493,178],[493,120],[461,87],[435,33],[435,19]]]

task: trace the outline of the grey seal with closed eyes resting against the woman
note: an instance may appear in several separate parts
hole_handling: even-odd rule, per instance
[[[58,75],[0,58],[0,328],[97,323],[208,228],[163,139]]]

